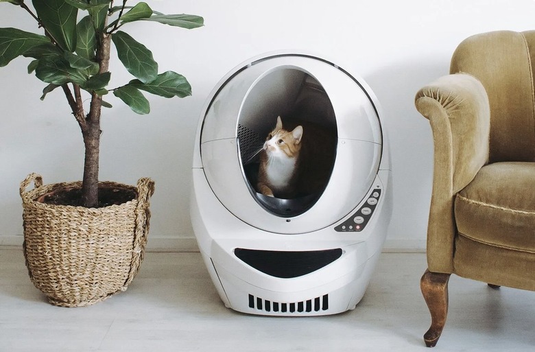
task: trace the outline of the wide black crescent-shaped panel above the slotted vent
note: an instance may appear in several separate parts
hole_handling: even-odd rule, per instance
[[[272,277],[291,279],[310,274],[342,257],[342,249],[281,251],[236,248],[236,257]]]

